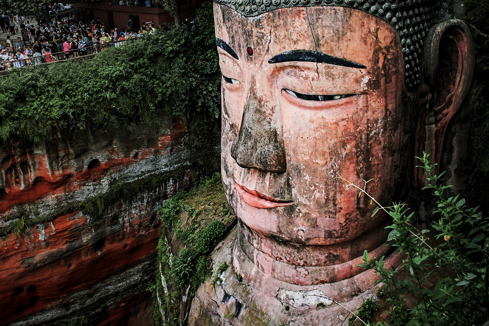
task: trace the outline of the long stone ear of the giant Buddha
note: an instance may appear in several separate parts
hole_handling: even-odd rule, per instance
[[[452,19],[433,26],[424,39],[422,62],[429,94],[423,94],[426,104],[417,128],[415,156],[421,157],[426,152],[432,164],[439,164],[448,123],[462,105],[472,82],[474,44],[467,25]],[[417,166],[421,162],[415,159],[414,163]],[[435,173],[439,173],[438,166]],[[425,186],[424,169],[415,168],[415,183],[417,187]]]

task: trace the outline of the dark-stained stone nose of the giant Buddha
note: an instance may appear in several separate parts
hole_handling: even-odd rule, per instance
[[[287,162],[279,133],[279,112],[276,107],[263,104],[256,96],[249,97],[240,131],[231,145],[231,156],[242,168],[284,173]]]

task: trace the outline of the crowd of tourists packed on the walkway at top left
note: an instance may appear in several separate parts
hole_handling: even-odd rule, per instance
[[[59,10],[67,6],[70,5],[55,3],[51,9]],[[154,25],[149,30],[145,26],[133,26],[131,19],[126,28],[119,30],[117,27],[106,27],[98,18],[91,22],[71,19],[35,26],[22,16],[10,17],[4,13],[1,17],[1,28],[4,33],[8,28],[9,35],[6,40],[0,40],[0,70],[97,53],[108,46],[119,46],[125,40],[145,37],[155,31]],[[11,22],[14,22],[12,32]],[[22,29],[27,29],[29,42],[22,41],[20,36],[16,37]]]

